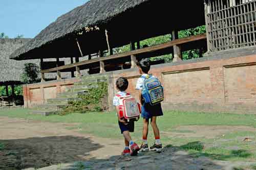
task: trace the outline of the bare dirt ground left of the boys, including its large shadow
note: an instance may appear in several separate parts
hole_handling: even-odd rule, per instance
[[[0,151],[0,169],[44,167],[120,154],[122,140],[67,129],[74,125],[0,117],[0,143],[5,144]]]

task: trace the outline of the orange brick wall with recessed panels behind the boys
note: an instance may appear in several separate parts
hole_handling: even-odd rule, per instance
[[[255,54],[243,54],[242,57],[216,54],[195,60],[155,65],[151,69],[151,73],[157,76],[164,86],[164,110],[230,113],[256,113],[255,72]],[[129,80],[127,91],[138,99],[138,91],[135,90],[139,78],[137,68],[108,72],[106,75],[109,77],[110,106],[116,93],[115,81],[118,77],[126,77]],[[66,84],[72,84],[72,81],[79,80],[68,79],[66,82],[69,83]],[[59,82],[45,83],[52,87]],[[39,85],[34,85],[34,88]],[[29,85],[26,88],[32,87],[33,85]],[[29,95],[26,90],[24,92],[26,101]],[[44,98],[48,95],[50,93],[44,93]],[[42,94],[35,95],[35,98],[33,96],[30,92],[30,103],[43,101],[42,97],[40,98]],[[53,94],[51,97],[54,97]],[[34,99],[35,102],[32,101]]]

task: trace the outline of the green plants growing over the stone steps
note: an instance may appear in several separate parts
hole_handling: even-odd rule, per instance
[[[101,99],[108,93],[107,82],[94,82],[88,84],[90,87],[86,94],[79,95],[80,101],[71,102],[63,111],[61,115],[79,112],[84,113],[87,111],[102,111]]]

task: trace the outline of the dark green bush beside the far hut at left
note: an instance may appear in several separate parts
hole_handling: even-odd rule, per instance
[[[39,67],[34,63],[26,63],[20,79],[25,84],[38,82]]]

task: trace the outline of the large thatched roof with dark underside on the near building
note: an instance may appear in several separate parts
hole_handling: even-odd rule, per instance
[[[76,38],[83,55],[88,55],[107,49],[105,29],[111,46],[117,47],[204,23],[203,0],[91,0],[57,18],[10,57],[27,60],[80,56]],[[94,29],[87,32],[88,28]]]

